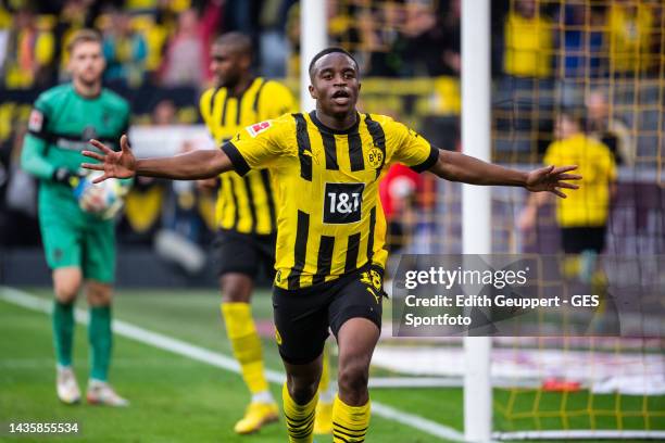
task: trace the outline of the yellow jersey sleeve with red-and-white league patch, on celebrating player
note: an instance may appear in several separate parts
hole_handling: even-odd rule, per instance
[[[224,143],[222,150],[239,175],[250,169],[269,167],[283,154],[283,118],[265,121],[246,127]]]

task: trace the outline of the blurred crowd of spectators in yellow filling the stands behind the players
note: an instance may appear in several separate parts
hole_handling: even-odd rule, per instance
[[[365,77],[412,81],[404,88],[367,81],[362,105],[399,112],[436,144],[459,149],[461,0],[327,0],[326,8],[329,43],[353,52]],[[586,129],[618,164],[654,157],[640,151],[639,134],[661,130],[662,1],[492,0],[491,8],[494,160],[538,162],[564,106],[585,111]],[[251,36],[256,74],[287,84],[290,78],[298,87],[297,0],[0,0],[0,244],[38,242],[35,186],[17,168],[24,122],[40,91],[67,80],[64,48],[83,27],[102,34],[104,83],[129,99],[135,124],[200,122],[198,94],[211,80],[210,42],[229,30]],[[649,89],[650,80],[655,88]],[[618,93],[626,85],[631,92]],[[414,180],[388,185],[402,202],[394,206],[404,206],[391,218],[409,218],[404,202],[436,198],[429,190],[429,197],[412,199],[423,188]],[[139,179],[120,240],[150,243],[168,228],[205,243],[213,205],[214,195],[191,186]],[[402,236],[402,227],[391,229]]]

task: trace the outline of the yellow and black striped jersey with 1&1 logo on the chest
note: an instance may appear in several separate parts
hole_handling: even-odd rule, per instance
[[[251,125],[222,149],[241,176],[271,172],[278,197],[275,284],[283,289],[329,281],[368,262],[382,268],[380,176],[394,162],[426,170],[439,152],[384,115],[359,115],[336,131],[315,113]]]

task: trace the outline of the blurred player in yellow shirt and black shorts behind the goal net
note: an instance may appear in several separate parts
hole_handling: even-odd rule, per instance
[[[563,110],[555,122],[555,138],[545,152],[544,163],[575,163],[585,177],[581,189],[556,204],[556,223],[561,228],[565,274],[581,281],[603,283],[597,269],[598,254],[605,249],[605,232],[610,216],[610,200],[615,192],[616,165],[607,145],[587,137],[579,115]],[[548,201],[547,194],[531,194],[519,218],[519,227],[536,225],[538,208]],[[594,281],[595,280],[595,281]],[[598,288],[601,290],[602,288]]]

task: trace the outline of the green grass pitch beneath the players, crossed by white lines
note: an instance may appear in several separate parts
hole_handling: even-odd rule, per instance
[[[50,290],[27,292],[50,300]],[[81,298],[83,299],[83,298]],[[218,295],[215,291],[138,291],[120,290],[115,295],[115,318],[141,328],[186,341],[213,352],[230,355],[222,325]],[[85,303],[79,301],[79,307]],[[254,315],[272,318],[267,291],[260,291],[253,301]],[[389,311],[389,309],[386,309]],[[89,406],[81,403],[65,406],[54,392],[54,358],[51,343],[50,318],[43,313],[0,301],[0,441],[43,441],[45,436],[18,436],[8,433],[9,422],[77,422],[76,436],[48,436],[49,442],[285,442],[284,423],[265,427],[253,435],[238,436],[233,426],[243,413],[249,394],[239,375],[192,360],[167,351],[152,347],[124,337],[115,337],[111,381],[121,395],[130,400],[124,409]],[[88,369],[88,344],[85,326],[77,325],[75,336],[75,368],[81,388]],[[269,338],[264,339],[264,357],[269,369],[281,371],[277,349]],[[280,390],[272,384],[276,398]],[[461,389],[375,389],[372,398],[461,430]],[[505,392],[497,391],[495,402]],[[520,397],[525,407],[532,403],[528,393]],[[584,395],[584,393],[580,393]],[[614,396],[599,400],[600,405],[617,407]],[[655,397],[651,410],[665,406],[663,397]],[[559,395],[541,400],[543,410],[556,410]],[[568,401],[567,407],[579,405]],[[498,405],[500,407],[500,405]],[[517,407],[517,406],[516,406]],[[622,402],[622,408],[641,407]],[[576,418],[584,426],[585,418]],[[627,427],[643,429],[635,419]],[[639,422],[638,422],[639,421]],[[555,419],[545,421],[561,427]],[[495,427],[503,430],[534,429],[534,420],[511,420],[495,414]],[[662,429],[662,428],[661,428]],[[330,438],[316,436],[318,443]],[[376,415],[367,434],[368,442],[418,443],[441,440]]]

